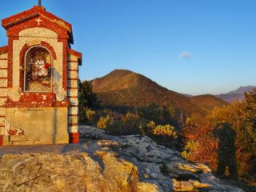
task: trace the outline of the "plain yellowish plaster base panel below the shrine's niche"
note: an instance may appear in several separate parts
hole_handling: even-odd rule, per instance
[[[66,107],[6,108],[10,128],[23,130],[24,135],[10,135],[3,145],[68,143],[67,114]]]

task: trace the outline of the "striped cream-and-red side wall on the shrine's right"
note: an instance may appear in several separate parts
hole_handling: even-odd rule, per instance
[[[69,107],[69,133],[78,133],[78,57],[68,55],[68,88],[67,98]]]

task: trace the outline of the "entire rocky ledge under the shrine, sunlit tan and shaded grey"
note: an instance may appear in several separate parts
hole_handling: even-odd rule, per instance
[[[78,145],[0,148],[0,191],[242,191],[146,136],[80,134]]]

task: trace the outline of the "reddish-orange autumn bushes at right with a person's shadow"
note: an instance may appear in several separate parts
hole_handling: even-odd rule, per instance
[[[218,174],[229,169],[230,178],[238,176],[255,185],[256,90],[245,96],[243,102],[215,108],[206,118],[188,118],[182,155],[190,161],[207,162]]]

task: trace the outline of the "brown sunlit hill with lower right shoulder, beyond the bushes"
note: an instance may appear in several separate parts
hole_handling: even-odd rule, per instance
[[[190,115],[206,114],[215,106],[227,104],[212,95],[186,97],[130,70],[114,70],[91,82],[102,105],[111,108],[138,107],[154,102],[162,106],[174,106]]]

